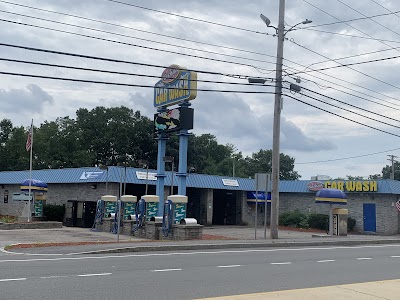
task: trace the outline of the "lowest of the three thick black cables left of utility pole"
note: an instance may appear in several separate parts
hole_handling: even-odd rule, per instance
[[[20,77],[31,77],[31,78],[60,80],[60,81],[96,83],[96,84],[105,84],[105,85],[117,85],[117,86],[141,87],[141,88],[154,89],[154,85],[144,85],[144,84],[130,84],[130,83],[108,82],[108,81],[98,81],[98,80],[75,79],[75,78],[43,76],[43,75],[34,75],[34,74],[26,74],[26,73],[14,73],[14,72],[3,72],[3,71],[0,71],[0,74],[9,75],[9,76],[20,76]],[[275,87],[274,85],[264,85],[264,86]],[[163,90],[173,90],[175,88],[164,88],[163,87],[162,89]],[[182,88],[181,90],[182,91],[191,91],[191,89],[184,89],[184,88]],[[200,92],[218,92],[218,93],[235,93],[235,94],[275,94],[275,92],[210,90],[210,89],[196,89],[196,91],[200,91]]]

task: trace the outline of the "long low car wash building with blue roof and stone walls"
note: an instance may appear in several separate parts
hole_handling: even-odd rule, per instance
[[[47,184],[47,204],[64,205],[66,226],[91,227],[96,202],[104,195],[133,195],[137,199],[156,194],[156,171],[109,166],[103,169],[71,168],[33,170],[32,178]],[[21,183],[29,171],[0,172],[0,215],[21,216],[28,195]],[[147,179],[146,179],[147,178]],[[174,178],[172,180],[172,178]],[[166,172],[164,198],[177,194],[174,172]],[[174,183],[171,191],[171,183]],[[329,206],[316,203],[315,194],[324,187],[343,190],[347,195],[348,216],[356,220],[357,232],[393,235],[400,232],[400,181],[311,181],[282,180],[279,185],[280,213],[299,210],[305,213],[329,213]],[[270,196],[255,193],[253,179],[190,173],[187,176],[187,217],[199,224],[254,225],[257,198],[257,224],[264,214],[270,217]],[[31,202],[35,211],[35,203]]]

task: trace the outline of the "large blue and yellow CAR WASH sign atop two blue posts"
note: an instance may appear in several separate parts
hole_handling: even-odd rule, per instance
[[[196,98],[197,73],[178,65],[164,70],[154,86],[154,107],[167,107]]]

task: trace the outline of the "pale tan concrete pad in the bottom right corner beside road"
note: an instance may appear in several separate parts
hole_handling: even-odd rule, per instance
[[[400,279],[365,282],[356,284],[344,284],[319,288],[307,288],[297,290],[276,291],[268,293],[244,294],[235,296],[223,296],[204,298],[197,300],[397,300],[400,298]]]

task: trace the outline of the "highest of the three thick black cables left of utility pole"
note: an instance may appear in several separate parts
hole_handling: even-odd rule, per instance
[[[24,49],[24,50],[29,50],[29,51],[51,53],[51,54],[57,54],[57,55],[65,55],[65,56],[71,56],[71,57],[79,57],[79,58],[86,58],[86,59],[93,59],[93,60],[100,60],[100,61],[107,61],[107,62],[114,62],[114,63],[131,64],[131,65],[144,66],[144,67],[153,67],[153,68],[162,68],[162,69],[168,68],[168,66],[161,66],[161,65],[147,64],[147,63],[139,63],[139,62],[120,60],[120,59],[113,59],[113,58],[106,58],[106,57],[100,57],[100,56],[90,56],[90,55],[77,54],[77,53],[71,53],[71,52],[62,52],[62,51],[41,49],[41,48],[20,46],[20,45],[14,45],[14,44],[0,43],[0,46],[17,48],[17,49]],[[185,70],[185,69],[183,69],[183,70]],[[209,74],[209,75],[230,76],[230,77],[235,77],[235,78],[248,78],[249,77],[247,75],[224,74],[224,73],[221,73],[221,72],[202,71],[202,70],[196,70],[196,69],[188,69],[188,71],[193,71],[193,72],[202,73],[202,74]],[[272,80],[272,78],[269,78],[269,80]]]

